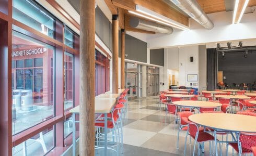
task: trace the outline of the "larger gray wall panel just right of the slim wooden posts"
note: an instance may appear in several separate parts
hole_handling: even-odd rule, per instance
[[[120,50],[121,40],[119,33],[119,57],[121,55]],[[147,62],[147,43],[137,38],[125,34],[125,54],[128,56],[125,59],[134,61]]]

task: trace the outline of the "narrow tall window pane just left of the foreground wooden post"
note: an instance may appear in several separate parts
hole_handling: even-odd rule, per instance
[[[64,108],[73,108],[74,94],[74,56],[70,53],[64,54]]]

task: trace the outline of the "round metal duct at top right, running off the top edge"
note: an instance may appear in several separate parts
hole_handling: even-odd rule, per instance
[[[203,25],[206,29],[213,29],[214,24],[205,14],[200,5],[196,0],[169,0],[176,6],[178,6],[182,11],[187,13],[195,21]]]

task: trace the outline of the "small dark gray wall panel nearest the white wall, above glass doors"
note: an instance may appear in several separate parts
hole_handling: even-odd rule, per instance
[[[150,63],[159,66],[164,66],[164,51],[165,49],[151,49],[150,50]]]

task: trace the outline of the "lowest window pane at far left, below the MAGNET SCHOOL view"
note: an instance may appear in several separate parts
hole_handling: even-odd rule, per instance
[[[13,147],[13,155],[45,155],[54,148],[54,138],[54,127],[45,129]]]

